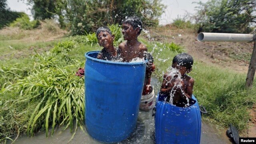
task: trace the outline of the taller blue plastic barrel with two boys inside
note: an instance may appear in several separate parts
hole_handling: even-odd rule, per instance
[[[145,62],[111,62],[87,52],[85,124],[92,138],[120,142],[136,128],[145,79]]]

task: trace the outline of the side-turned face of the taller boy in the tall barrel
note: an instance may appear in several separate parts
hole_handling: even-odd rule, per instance
[[[132,40],[137,37],[139,28],[133,28],[131,24],[122,24],[122,34],[124,35],[124,40]]]

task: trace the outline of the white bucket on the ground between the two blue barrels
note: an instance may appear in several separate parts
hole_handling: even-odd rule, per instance
[[[154,107],[153,100],[154,100],[154,90],[148,95],[141,96],[140,100],[140,110],[149,111],[151,108]]]

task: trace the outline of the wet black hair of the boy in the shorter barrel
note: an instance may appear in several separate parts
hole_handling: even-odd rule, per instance
[[[180,53],[174,56],[172,64],[174,64],[175,62],[177,62],[177,64],[180,66],[184,66],[186,69],[190,69],[192,68],[194,60],[189,54]]]

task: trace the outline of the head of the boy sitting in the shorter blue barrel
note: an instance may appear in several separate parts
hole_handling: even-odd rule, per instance
[[[186,74],[191,72],[193,62],[192,56],[187,53],[181,53],[174,56],[172,67],[178,69],[181,74]]]

